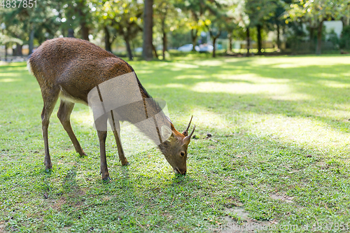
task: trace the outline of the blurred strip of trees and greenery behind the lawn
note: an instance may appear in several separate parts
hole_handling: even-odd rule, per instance
[[[347,53],[349,21],[349,0],[2,1],[0,60],[22,61],[56,37],[129,60]]]

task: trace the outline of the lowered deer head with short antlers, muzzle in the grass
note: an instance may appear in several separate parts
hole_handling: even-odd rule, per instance
[[[161,143],[158,147],[165,155],[165,159],[172,165],[175,174],[186,175],[186,160],[187,160],[187,148],[190,144],[193,132],[195,132],[195,126],[192,132],[188,135],[188,129],[192,122],[188,123],[187,129],[182,134],[178,132],[174,125],[171,123],[171,129],[166,125],[162,126],[162,136],[167,138],[166,141]]]

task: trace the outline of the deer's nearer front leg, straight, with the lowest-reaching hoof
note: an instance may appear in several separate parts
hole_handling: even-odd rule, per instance
[[[99,117],[95,120],[95,125],[97,128],[97,134],[99,136],[99,152],[101,157],[101,174],[102,179],[104,181],[108,181],[109,178],[109,169],[107,167],[107,159],[106,159],[106,138],[107,138],[107,120],[108,116],[106,114]]]

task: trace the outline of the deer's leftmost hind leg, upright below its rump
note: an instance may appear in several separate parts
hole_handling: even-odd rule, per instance
[[[51,157],[48,148],[48,125],[50,123],[50,116],[58,99],[59,89],[46,89],[41,88],[41,94],[43,95],[43,111],[41,112],[41,125],[43,129],[43,139],[45,146],[45,169],[52,169]]]

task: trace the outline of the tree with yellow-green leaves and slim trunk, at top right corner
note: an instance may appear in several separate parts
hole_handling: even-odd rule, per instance
[[[290,5],[286,18],[304,20],[309,22],[310,28],[317,29],[316,55],[321,55],[323,22],[339,20],[349,15],[349,3],[350,0],[300,0]]]

